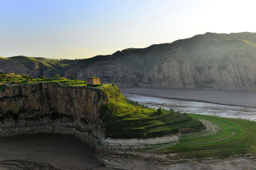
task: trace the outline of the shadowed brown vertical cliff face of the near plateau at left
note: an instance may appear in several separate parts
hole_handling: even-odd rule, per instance
[[[57,83],[10,85],[0,91],[0,128],[26,127],[31,123],[61,125],[104,136],[98,109],[108,100],[100,89],[94,88]],[[40,128],[45,130],[45,127]]]

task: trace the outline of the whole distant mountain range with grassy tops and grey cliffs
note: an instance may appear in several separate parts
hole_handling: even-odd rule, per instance
[[[90,59],[0,58],[0,71],[121,86],[256,90],[256,33],[205,33]]]

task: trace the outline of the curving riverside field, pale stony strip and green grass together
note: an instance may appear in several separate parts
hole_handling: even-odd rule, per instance
[[[256,122],[188,114],[204,128],[198,132],[148,139],[105,139],[102,146],[117,153],[160,156],[163,161],[194,158],[226,158],[256,154]]]

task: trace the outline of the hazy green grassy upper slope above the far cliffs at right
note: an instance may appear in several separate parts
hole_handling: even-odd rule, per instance
[[[144,69],[169,56],[194,63],[212,63],[219,56],[238,51],[247,53],[249,59],[256,61],[256,33],[206,33],[144,49],[130,48],[118,51],[117,55],[123,63]]]

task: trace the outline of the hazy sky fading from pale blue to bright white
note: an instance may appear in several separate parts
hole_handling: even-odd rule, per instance
[[[256,32],[255,0],[0,0],[0,57],[81,59]]]

